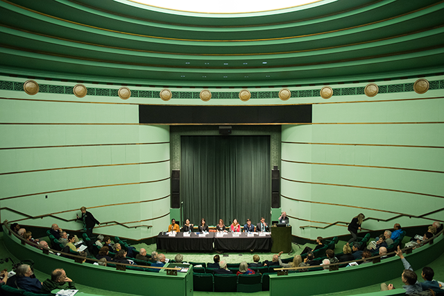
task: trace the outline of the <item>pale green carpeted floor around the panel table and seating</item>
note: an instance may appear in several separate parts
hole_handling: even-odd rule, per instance
[[[3,232],[0,232],[0,270],[3,269],[8,269],[11,270],[12,267],[12,263],[10,260],[8,260],[8,262],[5,262],[4,259],[9,258],[12,259],[12,261],[14,263],[19,262],[19,259],[15,258],[15,256],[12,256],[12,254],[10,254],[10,252],[8,252],[8,250],[6,249],[6,247],[3,245]],[[407,238],[406,238],[407,239]],[[342,252],[342,247],[345,244],[345,242],[343,241],[339,241],[339,243],[336,245],[335,248],[335,253],[339,253]],[[283,258],[287,258],[287,257],[291,257],[294,256],[295,254],[300,254],[300,252],[302,252],[302,250],[304,250],[304,248],[306,246],[309,247],[314,247],[313,244],[306,244],[306,245],[300,245],[300,247],[298,245],[292,245],[293,250],[291,252],[291,254],[283,254],[282,257]],[[155,244],[153,245],[145,245],[145,244],[139,244],[139,245],[135,245],[136,249],[139,250],[140,247],[144,247],[146,248],[148,253],[151,253],[153,251],[155,251]],[[174,259],[174,256],[176,256],[177,253],[164,253],[167,258],[170,259]],[[200,254],[200,253],[181,253],[184,256],[184,261],[191,261],[191,262],[212,262],[213,261],[213,256],[216,253],[208,253],[208,254]],[[250,253],[250,252],[246,252],[246,253],[225,253],[225,254],[221,254],[220,256],[223,256],[223,259],[225,261],[227,261],[228,263],[240,263],[241,261],[247,261],[247,262],[251,262],[253,261],[253,255],[256,253]],[[271,260],[273,254],[272,253],[257,253],[260,258],[261,261],[264,260]],[[439,281],[444,281],[444,253],[438,258],[436,259],[434,262],[432,262],[429,265],[431,268],[434,269],[435,272],[435,279],[439,280]],[[422,268],[422,266],[421,266]],[[417,268],[416,269],[416,274],[418,275],[418,279],[421,278],[421,268]],[[74,279],[74,281],[76,280],[76,275],[71,275],[69,274],[69,270],[66,270],[68,277],[71,277],[72,279]],[[49,278],[49,275],[44,274],[43,272],[40,272],[38,270],[38,266],[35,266],[35,276],[37,277],[37,279],[40,279],[41,281],[44,281],[44,279]],[[393,284],[396,288],[401,288],[402,286],[402,281],[400,279],[400,276],[398,275],[394,275],[395,278],[394,279],[387,279],[387,283],[391,283]],[[80,290],[80,292],[83,293],[89,293],[89,294],[96,294],[96,295],[112,295],[112,296],[132,296],[132,295],[128,295],[128,294],[124,294],[124,293],[116,293],[116,292],[112,292],[109,290],[101,290],[101,289],[97,289],[97,288],[93,288],[93,287],[89,287],[89,286],[83,286],[81,284],[76,284],[76,288],[78,288]],[[377,292],[379,291],[379,284],[377,285],[373,285],[373,286],[366,286],[366,287],[362,287],[359,289],[354,289],[354,290],[345,290],[339,293],[326,293],[324,295],[359,295],[359,294],[364,294],[364,293],[372,293],[372,292]],[[204,295],[216,295],[216,296],[245,296],[245,293],[208,293],[208,292],[194,292],[194,295],[196,296],[204,296]],[[252,295],[252,296],[266,296],[269,295],[268,291],[263,291],[263,292],[257,292],[257,293],[248,293],[248,295]]]

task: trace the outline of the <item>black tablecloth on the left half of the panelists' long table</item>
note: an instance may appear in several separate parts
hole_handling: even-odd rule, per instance
[[[176,236],[168,236],[168,234],[162,234],[161,232],[156,238],[157,250],[212,252],[213,238],[214,233],[212,232],[205,237],[199,237],[196,232],[191,232],[189,237],[184,237],[182,232],[179,232]]]

